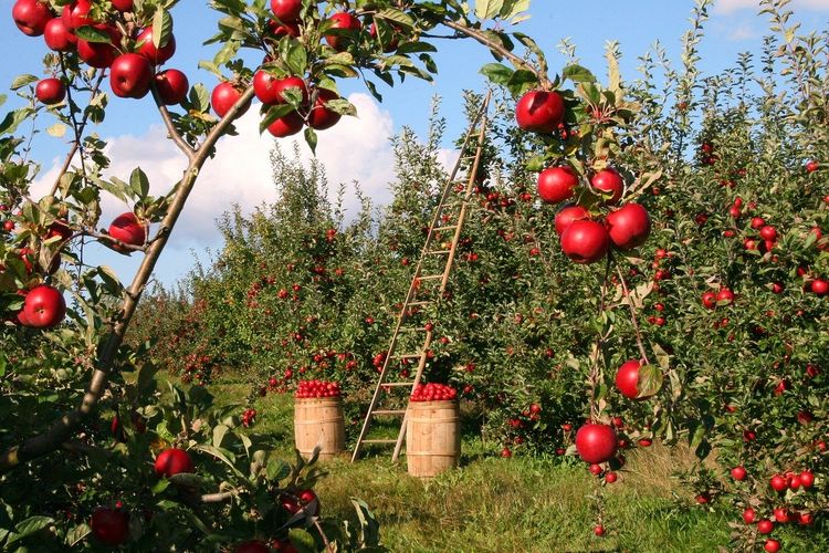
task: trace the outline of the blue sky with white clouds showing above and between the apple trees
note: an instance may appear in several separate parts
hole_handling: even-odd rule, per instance
[[[0,0],[0,3],[4,13],[10,13],[13,2]],[[216,29],[217,20],[206,4],[207,2],[185,0],[172,10],[178,51],[169,66],[188,73],[191,83],[203,82],[210,88],[216,84],[214,77],[207,73],[199,74],[196,69],[199,60],[210,59],[213,54],[213,49],[201,46],[202,41]],[[732,66],[739,52],[759,51],[767,22],[757,15],[758,4],[758,0],[720,0],[711,10],[706,36],[701,45],[702,69],[706,74],[714,74]],[[795,0],[791,7],[795,10],[795,19],[802,23],[804,31],[827,28],[829,0]],[[533,0],[531,20],[515,29],[536,39],[547,53],[553,71],[564,63],[556,44],[563,38],[569,38],[577,45],[583,65],[590,67],[598,75],[604,75],[606,41],[618,40],[623,55],[622,76],[632,80],[638,76],[634,71],[638,58],[648,51],[655,40],[667,48],[674,63],[679,63],[680,39],[688,29],[688,18],[692,8],[691,0]],[[46,52],[42,39],[30,39],[20,33],[8,15],[0,18],[0,44],[7,53],[4,62],[0,64],[0,84],[3,88],[8,88],[13,77],[20,73],[42,73],[40,60]],[[343,128],[335,127],[321,135],[318,154],[328,165],[333,182],[359,179],[366,185],[368,192],[382,202],[386,199],[384,184],[391,175],[387,137],[398,132],[402,125],[409,125],[422,133],[430,98],[434,94],[443,97],[443,115],[449,119],[450,138],[461,132],[462,121],[460,117],[452,117],[452,114],[459,113],[461,106],[460,91],[483,87],[484,81],[478,71],[492,58],[482,46],[471,41],[444,41],[438,46],[441,52],[436,59],[440,73],[436,82],[407,80],[405,86],[384,87],[380,90],[385,100],[381,105],[376,105],[365,96],[366,91],[359,82],[342,83],[342,91],[350,95],[349,97],[360,107],[360,119],[348,122],[347,125],[340,124],[337,127]],[[3,108],[14,105],[13,98],[10,100]],[[264,143],[265,139],[255,136],[255,121],[252,117],[251,115],[245,124],[240,123],[246,133],[235,138],[238,142],[248,143],[240,145],[225,140],[220,146],[220,155],[216,159],[217,168],[213,171],[214,180],[206,177],[208,185],[216,182],[216,188],[208,190],[202,197],[193,198],[195,206],[190,212],[185,213],[182,220],[185,228],[176,229],[174,232],[171,251],[162,259],[166,267],[159,272],[162,281],[169,283],[183,273],[192,262],[190,251],[202,251],[206,247],[218,246],[218,234],[213,230],[212,220],[227,208],[227,202],[239,202],[243,208],[250,209],[261,201],[274,199],[273,187],[267,181],[266,154],[270,142]],[[150,101],[112,98],[107,121],[96,132],[112,142],[114,157],[122,154],[124,158],[123,165],[114,167],[114,174],[124,178],[125,175],[118,173],[119,170],[126,173],[130,167],[141,165],[153,180],[159,180],[158,186],[161,187],[165,180],[169,180],[180,170],[176,165],[172,146],[166,146],[160,142],[162,134],[157,123],[158,118]],[[327,136],[324,136],[326,134]],[[337,144],[343,140],[347,142],[348,147]],[[253,147],[252,142],[262,144]],[[366,154],[355,157],[354,144],[363,145]],[[65,147],[61,140],[45,135],[39,136],[35,154],[43,163],[44,174],[48,175],[60,153],[65,152]],[[256,159],[250,157],[254,150],[259,156]],[[303,153],[303,156],[307,156],[307,153]],[[263,157],[264,159],[260,159]],[[244,187],[228,185],[227,180],[231,176],[238,176],[240,166],[251,171],[259,168],[256,174],[261,181],[253,185],[251,182],[255,179],[248,176]],[[217,201],[217,198],[221,198],[222,201]],[[126,209],[124,206],[105,206],[105,218],[114,217]],[[102,257],[98,262],[112,264],[123,276],[126,276],[130,269],[130,264],[124,262],[125,258],[115,253],[99,251],[95,254]]]

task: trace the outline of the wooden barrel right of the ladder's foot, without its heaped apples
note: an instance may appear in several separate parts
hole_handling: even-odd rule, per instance
[[[409,474],[431,478],[458,467],[461,459],[461,413],[458,401],[411,401],[406,419],[406,465]]]

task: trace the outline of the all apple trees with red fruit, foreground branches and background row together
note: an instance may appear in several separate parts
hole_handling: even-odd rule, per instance
[[[610,43],[601,82],[504,30],[528,1],[214,0],[204,84],[175,67],[176,3],[12,6],[8,40],[42,41],[48,76],[18,76],[0,122],[4,549],[382,550],[370,498],[326,515],[322,469],[287,462],[253,403],[342,396],[353,444],[445,180],[437,142],[397,138],[390,205],[349,221],[275,153],[276,202],[220,222],[225,246],[187,293],[146,289],[235,119],[259,109],[262,133],[313,149],[356,114],[342,81],[381,100],[379,82],[432,80],[442,39],[492,53],[495,107],[450,286],[411,313],[438,338],[410,400],[460,399],[503,462],[594,474],[596,547],[626,531],[602,490],[655,441],[697,459],[682,478],[728,513],[723,546],[827,546],[829,72],[825,35],[798,34],[786,1],[760,2],[773,34],[724,75],[697,70],[697,0],[680,67],[658,50],[622,81]],[[139,168],[109,175],[95,128],[114,102],[156,105],[187,160],[161,196]],[[34,197],[45,127],[69,149]],[[90,264],[92,241],[140,267]],[[221,378],[248,384],[243,408],[214,401]]]

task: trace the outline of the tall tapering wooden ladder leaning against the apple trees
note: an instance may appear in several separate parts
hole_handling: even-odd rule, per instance
[[[411,279],[409,285],[409,292],[406,294],[406,300],[402,302],[400,307],[400,314],[397,317],[397,324],[395,325],[395,332],[391,334],[391,343],[386,352],[386,358],[380,369],[380,375],[377,379],[377,387],[375,388],[371,403],[366,413],[366,418],[363,421],[363,429],[360,430],[359,438],[357,438],[357,445],[354,448],[354,455],[351,456],[351,462],[357,460],[363,450],[363,446],[366,444],[395,444],[395,453],[391,457],[392,461],[397,461],[400,456],[400,450],[406,439],[406,418],[408,409],[379,409],[380,398],[386,389],[408,388],[409,395],[414,392],[414,388],[420,384],[420,379],[423,376],[423,368],[428,361],[429,347],[432,343],[433,332],[431,326],[405,326],[407,319],[411,316],[412,307],[423,307],[434,303],[437,300],[418,300],[418,291],[421,289],[423,283],[427,282],[439,282],[440,285],[437,289],[437,298],[442,298],[447,290],[447,283],[449,282],[449,275],[452,270],[452,263],[454,262],[455,252],[458,250],[458,242],[461,238],[461,230],[463,228],[463,221],[466,218],[466,211],[469,202],[472,198],[472,194],[475,187],[475,180],[478,171],[480,169],[481,153],[483,152],[484,138],[486,136],[486,112],[489,111],[490,100],[492,98],[492,92],[489,92],[484,97],[483,103],[479,112],[475,114],[472,123],[470,124],[466,135],[461,146],[461,155],[458,161],[452,168],[452,173],[447,180],[443,191],[440,196],[438,207],[434,210],[432,222],[429,226],[429,232],[426,238],[426,244],[420,253],[420,260],[414,268],[414,275]],[[474,153],[470,154],[470,150],[474,147]],[[471,161],[471,166],[469,165]],[[463,167],[469,167],[469,173],[459,179],[459,174]],[[462,196],[458,192],[461,191]],[[460,209],[458,209],[460,208]],[[454,211],[458,209],[458,211]],[[447,221],[448,218],[454,217],[454,222]],[[449,248],[440,246],[438,249],[434,248],[437,238],[440,232],[451,231],[452,241]],[[434,258],[445,258],[442,272],[436,272],[433,274],[423,274],[424,268]],[[433,298],[436,298],[433,296]],[[420,348],[414,353],[397,354],[396,349],[401,334],[406,333],[423,333],[423,342]],[[392,362],[398,361],[414,361],[417,359],[418,366],[414,373],[413,380],[405,382],[386,382],[389,373],[389,367]],[[407,397],[408,404],[408,397]],[[400,424],[400,430],[398,431],[397,439],[368,439],[368,432],[371,428],[371,419],[376,416],[392,416],[402,417]]]

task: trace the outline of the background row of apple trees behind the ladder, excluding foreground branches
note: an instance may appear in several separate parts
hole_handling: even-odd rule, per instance
[[[579,134],[595,137],[620,116],[615,95],[579,84],[591,109],[568,112],[580,125],[542,139],[515,129],[511,103],[499,104],[450,294],[420,314],[438,336],[427,379],[455,385],[485,413],[499,450],[564,453],[589,417],[613,424],[625,447],[661,438],[688,442],[701,459],[715,451],[717,469],[701,465],[689,478],[699,503],[734,509],[738,546],[820,546],[829,508],[825,46],[820,35],[797,35],[785,2],[764,2],[779,38],[702,79],[706,7],[684,36],[682,67],[661,50],[641,59],[643,77],[627,88],[640,108],[632,131],[605,152],[627,181],[626,200],[651,213],[638,250],[573,264],[556,240],[558,206],[534,190],[541,169],[571,147],[596,146]],[[611,80],[613,58],[611,49]],[[503,67],[485,71],[510,80]],[[579,81],[580,71],[569,76]],[[443,178],[441,131],[437,119],[424,144],[398,136],[391,204],[378,215],[364,202],[348,220],[328,202],[321,167],[275,153],[281,199],[250,217],[229,213],[228,246],[192,276],[186,300],[160,294],[146,306],[187,317],[167,317],[159,351],[172,361],[193,344],[190,361],[169,367],[202,382],[216,371],[243,376],[260,393],[338,379],[358,421]],[[643,396],[659,389],[653,397],[631,401],[617,388],[629,359],[648,365],[637,384]],[[597,472],[607,478],[616,466]]]

